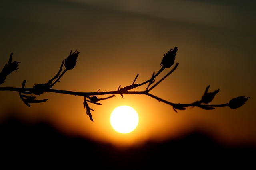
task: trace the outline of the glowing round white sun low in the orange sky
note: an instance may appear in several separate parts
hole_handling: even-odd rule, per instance
[[[119,133],[132,132],[137,127],[138,122],[138,113],[130,106],[118,106],[110,115],[110,124]]]

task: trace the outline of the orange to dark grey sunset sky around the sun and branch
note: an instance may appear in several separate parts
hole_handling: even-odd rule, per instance
[[[120,145],[172,139],[194,130],[228,145],[256,145],[255,7],[250,0],[2,0],[0,69],[10,53],[21,63],[1,87],[21,87],[24,79],[26,87],[47,82],[70,50],[78,50],[76,67],[54,88],[117,90],[132,84],[138,73],[137,82],[150,78],[164,53],[177,46],[178,69],[152,90],[154,95],[194,102],[210,84],[210,91],[220,88],[211,104],[242,95],[250,99],[235,110],[175,113],[148,96],[119,95],[101,106],[91,104],[91,122],[79,96],[43,94],[39,98],[49,98],[47,102],[27,107],[18,92],[0,92],[0,119],[14,114],[28,122],[48,121],[69,135]],[[120,105],[139,114],[137,129],[126,135],[109,123]]]

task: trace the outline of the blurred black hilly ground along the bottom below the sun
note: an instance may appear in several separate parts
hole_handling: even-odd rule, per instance
[[[0,124],[0,134],[1,169],[6,165],[33,169],[246,169],[255,167],[256,161],[256,148],[223,147],[197,132],[182,139],[148,142],[127,150],[81,137],[67,137],[47,123],[24,124],[14,118]]]

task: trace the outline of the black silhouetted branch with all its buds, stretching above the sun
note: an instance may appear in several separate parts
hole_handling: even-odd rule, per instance
[[[180,104],[180,103],[172,103],[169,102],[168,100],[164,100],[158,96],[155,96],[151,93],[149,93],[153,88],[155,88],[158,84],[160,84],[165,78],[167,78],[170,74],[172,74],[178,67],[179,63],[176,63],[175,66],[166,74],[163,78],[161,78],[158,82],[155,82],[155,79],[162,73],[163,70],[166,68],[170,68],[175,61],[176,53],[178,51],[178,47],[174,47],[174,49],[170,49],[167,53],[164,54],[164,57],[162,59],[162,62],[160,65],[162,66],[160,70],[155,74],[153,72],[152,77],[149,78],[148,80],[142,82],[142,83],[137,83],[135,84],[139,74],[136,75],[134,78],[134,81],[132,84],[125,86],[124,88],[120,88],[121,85],[118,87],[118,90],[116,91],[105,91],[105,92],[74,92],[74,91],[68,91],[68,90],[58,90],[58,89],[53,89],[52,86],[59,82],[60,78],[68,71],[72,70],[76,66],[77,62],[77,57],[79,52],[75,51],[72,53],[70,51],[70,55],[62,61],[62,64],[60,66],[60,69],[56,76],[54,76],[52,79],[50,79],[47,83],[42,83],[42,84],[36,84],[32,88],[26,88],[26,80],[22,82],[22,87],[0,87],[0,91],[16,91],[19,92],[19,96],[22,99],[22,101],[30,107],[31,103],[41,103],[41,102],[46,102],[48,99],[43,99],[43,100],[36,100],[36,95],[41,95],[45,92],[48,93],[58,93],[58,94],[68,94],[68,95],[74,95],[74,96],[83,96],[84,97],[84,108],[86,109],[86,114],[89,116],[90,120],[93,121],[92,119],[92,114],[91,111],[94,111],[93,109],[90,108],[88,105],[88,102],[96,105],[101,105],[101,103],[98,103],[100,100],[106,100],[112,97],[115,97],[115,94],[120,94],[122,97],[124,97],[124,94],[143,94],[150,96],[159,102],[164,102],[165,104],[168,104],[173,107],[174,111],[177,112],[177,110],[185,110],[187,107],[200,107],[201,109],[205,110],[212,110],[215,109],[215,107],[230,107],[231,109],[236,109],[241,107],[242,105],[245,104],[245,102],[248,100],[250,97],[245,97],[245,96],[239,96],[236,98],[231,99],[228,103],[225,104],[209,104],[212,102],[214,99],[215,95],[219,92],[218,90],[215,90],[214,92],[208,92],[210,85],[206,87],[206,90],[204,91],[204,94],[202,95],[201,100],[198,100],[196,102],[192,102],[189,104]],[[10,55],[8,63],[4,66],[2,72],[0,73],[0,84],[1,82],[3,83],[4,80],[6,79],[6,76],[13,72],[14,70],[18,69],[18,63],[17,61],[12,62],[12,54]],[[65,66],[65,69],[62,72],[62,68]],[[62,72],[62,73],[61,73]],[[55,81],[54,81],[55,80]],[[54,82],[53,82],[54,81]],[[53,83],[52,83],[53,82]],[[144,84],[147,84],[148,86],[146,87],[146,90],[144,91],[131,91],[133,89],[136,89],[140,86],[143,86]],[[26,94],[34,94],[34,95],[26,95]],[[111,95],[105,98],[98,98],[100,95]]]

